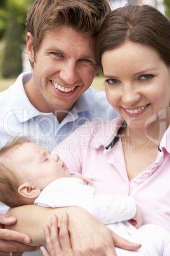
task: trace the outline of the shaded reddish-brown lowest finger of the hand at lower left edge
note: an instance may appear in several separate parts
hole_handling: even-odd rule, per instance
[[[40,246],[23,245],[15,241],[0,240],[1,252],[34,252],[40,250]],[[1,254],[0,254],[1,256]]]

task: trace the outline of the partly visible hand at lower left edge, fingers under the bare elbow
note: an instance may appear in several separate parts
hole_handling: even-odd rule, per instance
[[[4,229],[4,225],[15,224],[16,218],[6,214],[0,214],[0,256],[9,256],[9,252],[13,252],[13,256],[20,256],[23,252],[34,252],[40,250],[39,246],[23,245],[22,243],[30,243],[31,239],[26,234]]]

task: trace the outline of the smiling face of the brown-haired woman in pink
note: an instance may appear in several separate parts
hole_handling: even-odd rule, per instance
[[[131,129],[162,118],[169,124],[169,67],[153,48],[129,41],[104,52],[101,62],[108,102]]]

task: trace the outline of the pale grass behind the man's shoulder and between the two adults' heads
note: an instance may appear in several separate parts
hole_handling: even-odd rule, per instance
[[[0,78],[0,92],[3,92],[3,90],[8,89],[10,85],[13,85],[16,78]],[[95,79],[91,85],[93,88],[98,90],[105,90],[104,80],[102,76],[95,76]]]

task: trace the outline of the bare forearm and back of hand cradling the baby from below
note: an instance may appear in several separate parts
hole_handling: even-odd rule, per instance
[[[50,225],[51,213],[60,219],[63,212],[69,215],[70,241],[74,252],[79,255],[115,255],[115,245],[127,250],[136,250],[140,245],[129,243],[110,231],[105,225],[92,217],[82,208],[45,208],[36,205],[20,206],[11,209],[8,214],[17,218],[17,222],[10,226],[18,232],[30,236],[32,245],[41,245],[45,242],[43,224]],[[9,227],[8,227],[9,228]]]

